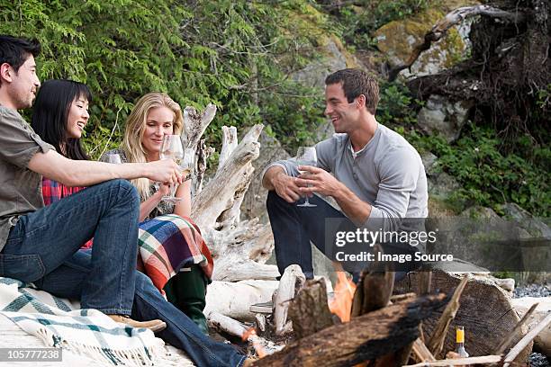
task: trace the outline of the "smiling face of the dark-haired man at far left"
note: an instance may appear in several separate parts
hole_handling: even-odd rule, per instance
[[[8,94],[10,101],[6,107],[22,110],[32,106],[36,91],[41,86],[41,81],[36,76],[36,63],[34,57],[29,55],[19,70],[7,64],[2,65],[2,73],[5,81],[9,82]]]

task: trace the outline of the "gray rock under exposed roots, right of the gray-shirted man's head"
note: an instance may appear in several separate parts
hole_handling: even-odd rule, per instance
[[[429,134],[440,134],[447,142],[459,138],[468,118],[472,101],[450,102],[440,95],[431,95],[417,116],[421,130]]]

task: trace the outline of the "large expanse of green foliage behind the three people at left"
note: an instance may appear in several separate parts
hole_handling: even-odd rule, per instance
[[[0,8],[0,32],[41,40],[41,79],[90,86],[85,143],[93,157],[120,142],[133,103],[153,91],[183,107],[216,104],[206,131],[211,144],[224,124],[244,130],[268,121],[285,133],[306,131],[318,119],[312,90],[288,78],[315,56],[318,34],[309,30],[325,27],[325,16],[306,0],[0,0]],[[296,144],[310,135],[282,136]]]

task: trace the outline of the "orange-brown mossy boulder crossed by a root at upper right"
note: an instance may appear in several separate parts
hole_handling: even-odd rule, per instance
[[[405,64],[413,49],[423,43],[425,34],[446,15],[447,11],[447,7],[433,8],[407,19],[384,24],[375,31],[377,48],[386,55],[393,66]],[[425,76],[452,67],[468,52],[469,31],[470,22],[462,23],[457,29],[450,29],[444,38],[433,43],[430,49],[420,55],[411,66],[411,70],[403,70],[401,76]]]

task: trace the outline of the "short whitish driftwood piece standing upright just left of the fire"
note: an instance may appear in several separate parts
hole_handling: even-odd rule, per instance
[[[299,265],[287,266],[274,297],[274,326],[277,336],[290,331],[290,325],[287,325],[289,306],[294,295],[303,288],[304,282],[306,282],[306,277]]]

